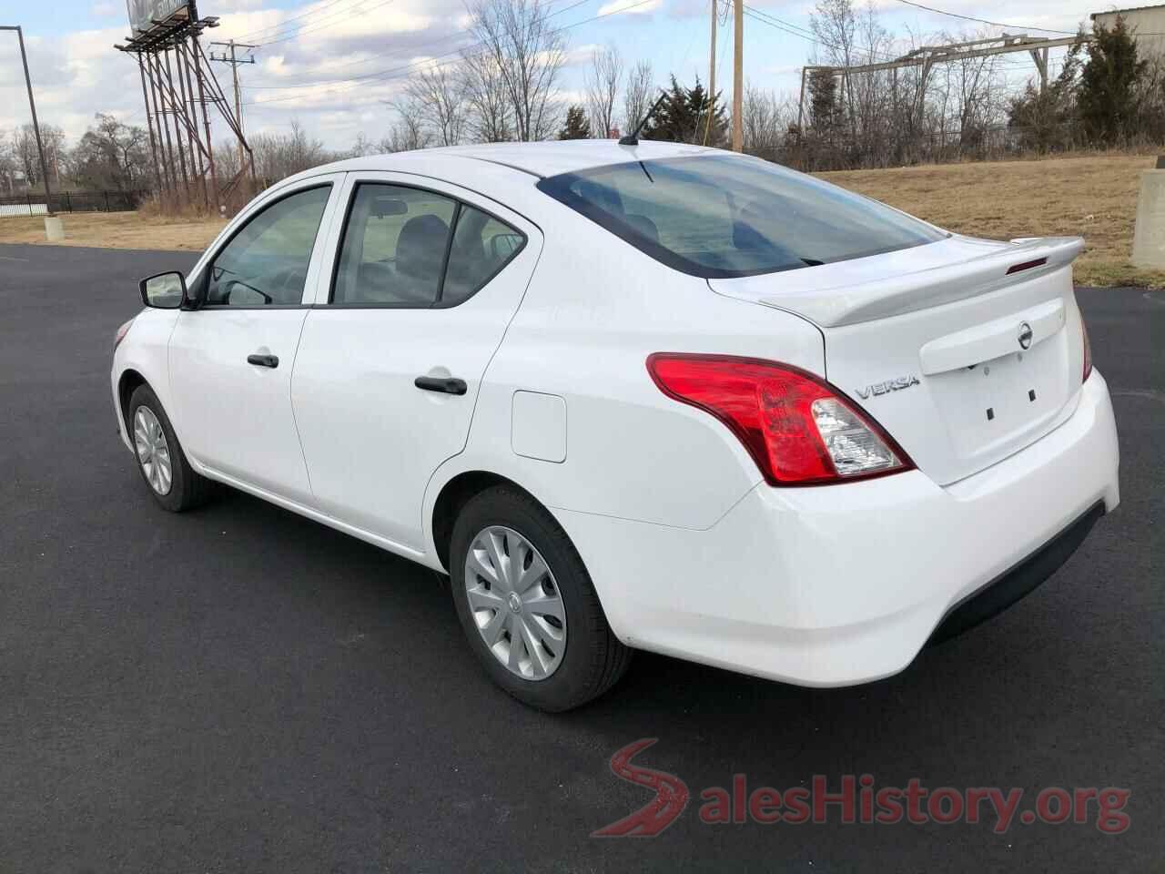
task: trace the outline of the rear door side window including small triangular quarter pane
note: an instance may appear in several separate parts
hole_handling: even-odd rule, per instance
[[[344,228],[332,303],[456,306],[524,244],[521,232],[444,195],[361,183]]]

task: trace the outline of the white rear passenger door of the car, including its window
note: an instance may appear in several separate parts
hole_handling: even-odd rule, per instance
[[[291,386],[317,507],[414,551],[542,248],[504,206],[421,178],[350,174]]]

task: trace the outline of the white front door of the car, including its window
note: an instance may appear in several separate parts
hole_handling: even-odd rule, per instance
[[[291,372],[322,228],[343,178],[315,177],[253,207],[191,276],[202,305],[183,310],[170,337],[174,413],[186,451],[217,473],[302,503],[311,488]]]

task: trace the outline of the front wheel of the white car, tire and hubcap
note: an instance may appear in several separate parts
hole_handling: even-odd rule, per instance
[[[212,484],[190,466],[162,403],[149,386],[134,389],[126,421],[137,457],[137,471],[154,500],[171,513],[203,503]]]

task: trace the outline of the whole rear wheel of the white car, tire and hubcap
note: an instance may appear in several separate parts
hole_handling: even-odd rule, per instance
[[[591,577],[555,519],[513,486],[472,498],[453,526],[453,601],[493,681],[545,711],[606,692],[631,650],[607,625]]]

